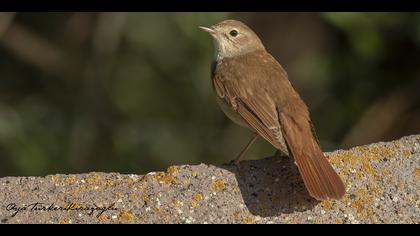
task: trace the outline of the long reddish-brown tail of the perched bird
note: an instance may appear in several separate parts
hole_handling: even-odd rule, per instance
[[[346,190],[312,133],[307,120],[280,114],[283,136],[309,194],[318,199],[340,199]]]

